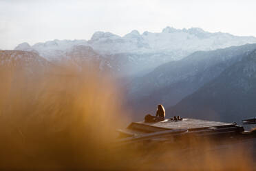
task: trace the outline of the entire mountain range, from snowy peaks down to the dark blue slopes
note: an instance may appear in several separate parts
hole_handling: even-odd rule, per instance
[[[200,28],[134,30],[123,37],[95,32],[88,41],[21,43],[0,50],[0,75],[11,68],[36,81],[34,73],[51,74],[66,66],[82,74],[97,68],[118,78],[137,120],[162,103],[167,117],[239,121],[256,112],[254,43],[255,37]]]

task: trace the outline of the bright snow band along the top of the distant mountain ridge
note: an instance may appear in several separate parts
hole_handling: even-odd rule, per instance
[[[137,30],[133,30],[123,37],[110,32],[95,32],[89,41],[54,40],[36,43],[34,46],[21,43],[15,50],[34,49],[39,54],[47,55],[47,52],[54,52],[54,50],[58,52],[58,50],[70,50],[72,46],[84,45],[91,46],[101,54],[172,52],[173,50],[185,50],[191,53],[198,50],[241,46],[246,43],[256,43],[256,38],[237,37],[222,32],[211,33],[201,28],[175,29],[167,27],[157,33],[144,32],[140,34]]]

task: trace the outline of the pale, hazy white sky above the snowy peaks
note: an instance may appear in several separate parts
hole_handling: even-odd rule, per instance
[[[54,39],[90,39],[96,31],[199,27],[256,37],[255,0],[0,0],[0,49]]]

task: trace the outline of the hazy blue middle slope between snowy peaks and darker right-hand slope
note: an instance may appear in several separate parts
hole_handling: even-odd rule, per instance
[[[256,44],[247,44],[198,51],[179,61],[164,63],[127,85],[129,103],[136,110],[149,110],[158,103],[175,105],[255,49]]]

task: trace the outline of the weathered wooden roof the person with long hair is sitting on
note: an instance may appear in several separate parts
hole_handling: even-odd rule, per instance
[[[132,144],[135,142],[168,142],[173,143],[173,137],[186,135],[195,137],[233,137],[244,131],[242,126],[236,123],[224,123],[217,121],[204,121],[200,119],[185,118],[182,121],[164,121],[145,123],[133,122],[125,130],[120,132],[119,143]]]

